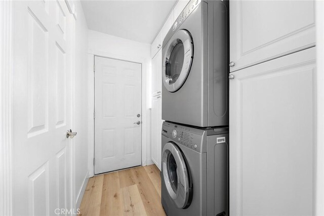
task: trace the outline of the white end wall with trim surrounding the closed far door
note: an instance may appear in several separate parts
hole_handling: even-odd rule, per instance
[[[151,58],[150,45],[131,41],[124,38],[115,37],[113,35],[101,33],[98,31],[89,30],[89,157],[93,158],[93,74],[92,65],[94,55],[128,60],[142,63],[142,164],[152,164],[150,155],[150,91],[151,86]],[[148,99],[149,98],[149,99]],[[146,157],[145,157],[146,155]],[[144,156],[144,157],[143,157]],[[89,162],[90,176],[93,175],[93,164]]]

